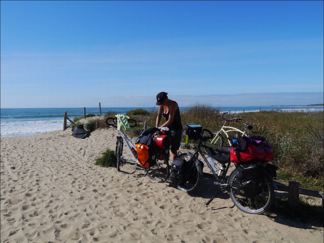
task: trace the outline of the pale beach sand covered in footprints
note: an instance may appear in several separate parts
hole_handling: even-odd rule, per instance
[[[133,162],[120,172],[94,165],[115,147],[112,128],[71,134],[1,138],[1,242],[323,242],[323,228],[241,212],[211,179],[188,195],[148,177],[138,184]]]

